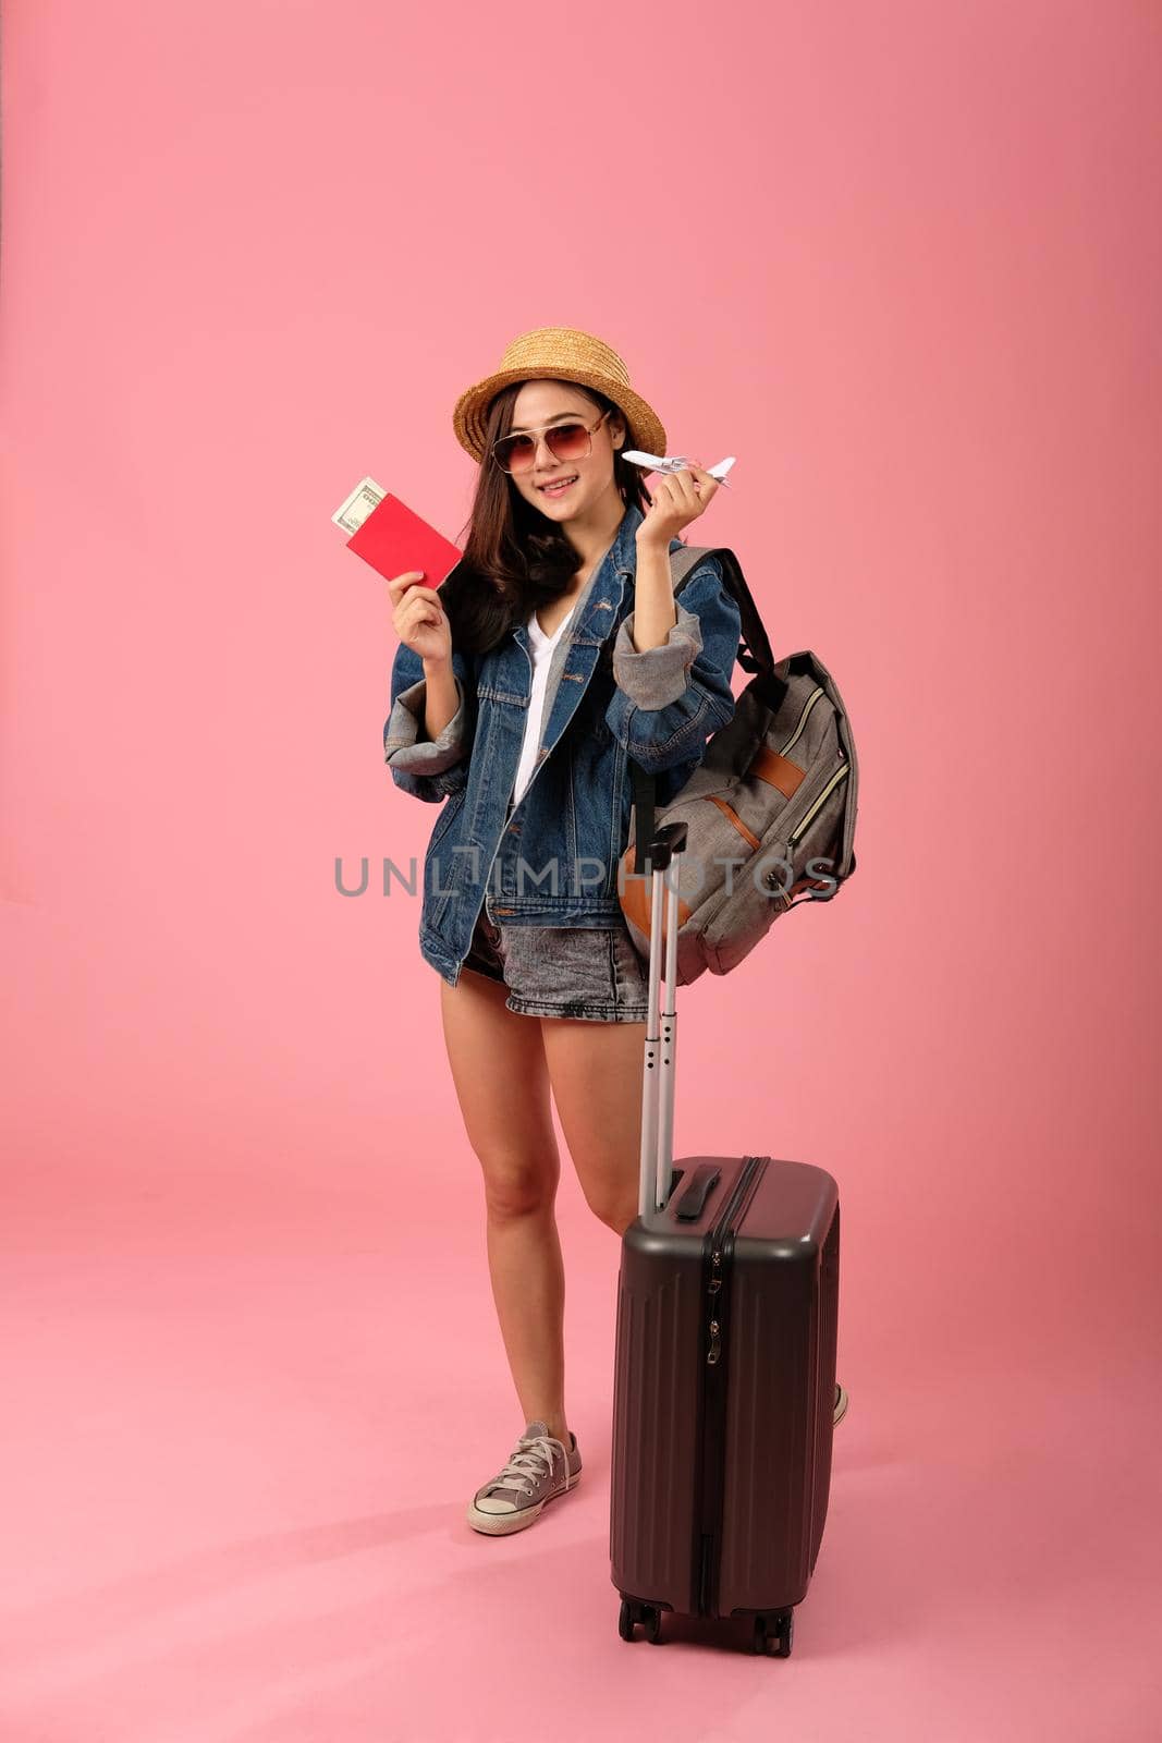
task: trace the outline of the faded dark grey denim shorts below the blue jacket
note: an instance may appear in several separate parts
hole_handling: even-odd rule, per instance
[[[509,988],[505,1004],[524,1016],[575,1016],[594,1023],[645,1023],[646,962],[620,926],[493,926],[476,922],[465,969]]]

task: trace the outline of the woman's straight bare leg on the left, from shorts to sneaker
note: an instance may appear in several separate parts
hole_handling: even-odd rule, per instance
[[[540,1020],[509,1011],[507,994],[472,969],[441,981],[444,1044],[484,1175],[488,1269],[517,1398],[526,1422],[540,1417],[568,1447],[561,1159]]]

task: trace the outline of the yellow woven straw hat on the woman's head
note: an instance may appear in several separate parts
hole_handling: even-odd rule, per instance
[[[625,413],[627,448],[665,453],[665,429],[657,411],[629,385],[629,370],[611,345],[578,328],[533,328],[505,347],[500,368],[465,389],[451,413],[456,441],[474,460],[484,458],[488,403],[510,382],[580,382],[596,387]]]

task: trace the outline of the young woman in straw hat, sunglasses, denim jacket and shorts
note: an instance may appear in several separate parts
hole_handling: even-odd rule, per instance
[[[399,648],[383,753],[444,800],[423,861],[420,952],[443,976],[444,1042],[481,1163],[488,1264],[526,1417],[469,1502],[490,1536],[531,1525],[582,1461],[564,1414],[564,1271],[551,1095],[585,1199],[638,1215],[646,973],[618,903],[629,758],[664,805],[733,715],[739,607],[714,558],[678,600],[669,553],[718,483],[653,495],[624,448],[665,431],[608,345],[516,338],[456,401],[479,462],[463,560],[439,593],[388,582]]]

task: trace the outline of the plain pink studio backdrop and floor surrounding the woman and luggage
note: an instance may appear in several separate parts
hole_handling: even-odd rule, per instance
[[[5,9],[0,1733],[1138,1740],[1162,1726],[1159,10]],[[382,762],[373,472],[578,324],[737,453],[859,872],[683,1000],[678,1154],[841,1190],[787,1663],[617,1637],[617,1241],[568,1157],[533,1536]],[[744,675],[737,673],[737,687]],[[681,1635],[681,1642],[679,1637]]]

